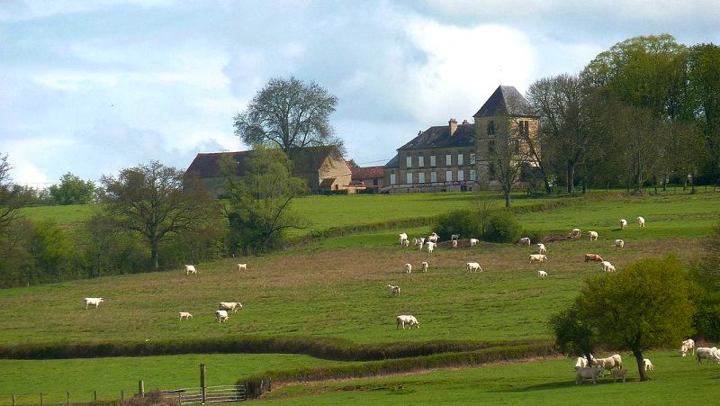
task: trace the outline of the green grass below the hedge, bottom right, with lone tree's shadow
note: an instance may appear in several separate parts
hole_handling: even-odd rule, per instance
[[[639,382],[635,359],[622,354],[626,383],[609,376],[575,384],[574,360],[483,365],[372,379],[298,383],[267,392],[267,404],[715,404],[720,365],[704,364],[677,351],[653,351],[651,380]]]

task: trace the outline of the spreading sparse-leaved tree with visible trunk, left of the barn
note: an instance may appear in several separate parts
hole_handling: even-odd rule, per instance
[[[101,182],[104,214],[148,241],[156,269],[161,242],[202,229],[221,215],[219,203],[197,179],[157,161],[122,169],[118,177],[103,176]]]

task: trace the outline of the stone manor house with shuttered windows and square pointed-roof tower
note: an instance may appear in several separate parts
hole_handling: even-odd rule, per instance
[[[536,161],[527,159],[523,137],[536,138],[539,118],[530,113],[527,100],[515,87],[499,86],[473,118],[473,123],[464,120],[458,124],[450,119],[447,125],[419,131],[397,149],[397,155],[384,167],[383,192],[498,189],[491,154],[499,142],[512,143],[516,149],[513,159],[536,167]]]

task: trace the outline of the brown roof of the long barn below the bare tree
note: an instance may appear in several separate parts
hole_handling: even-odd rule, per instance
[[[336,148],[332,146],[306,147],[295,151],[293,172],[296,174],[315,173],[320,170],[325,159],[335,152]],[[220,173],[220,162],[224,157],[231,157],[238,163],[235,175],[243,176],[247,168],[247,158],[252,158],[252,156],[252,150],[200,153],[193,159],[193,163],[190,164],[190,167],[187,167],[185,173],[202,178],[222,176],[223,174]]]

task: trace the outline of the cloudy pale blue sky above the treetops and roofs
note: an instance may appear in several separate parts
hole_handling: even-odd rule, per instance
[[[0,0],[0,156],[40,188],[184,169],[247,149],[233,116],[294,76],[338,97],[347,159],[384,165],[500,85],[525,94],[638,35],[718,44],[718,21],[716,0]]]

